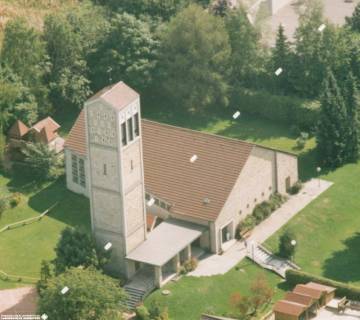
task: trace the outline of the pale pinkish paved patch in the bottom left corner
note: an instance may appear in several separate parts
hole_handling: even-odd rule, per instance
[[[36,301],[34,287],[0,290],[0,315],[34,315]]]

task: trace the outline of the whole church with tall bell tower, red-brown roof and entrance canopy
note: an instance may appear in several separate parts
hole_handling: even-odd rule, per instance
[[[95,238],[113,245],[110,267],[157,287],[204,250],[226,250],[239,221],[298,181],[293,154],[142,120],[123,82],[85,102],[65,162],[68,189],[90,198]]]

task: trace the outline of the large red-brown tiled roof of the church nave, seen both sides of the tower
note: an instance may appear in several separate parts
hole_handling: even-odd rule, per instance
[[[146,191],[171,203],[171,212],[206,221],[216,220],[254,147],[148,120],[142,120],[142,136]],[[65,147],[86,155],[84,111]],[[198,159],[191,163],[193,155]]]

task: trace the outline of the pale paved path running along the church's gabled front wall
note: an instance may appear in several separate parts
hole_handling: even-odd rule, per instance
[[[255,227],[248,242],[264,242],[332,185],[332,182],[329,181],[321,180],[320,183],[319,181],[318,179],[312,179],[306,182],[299,194],[291,196],[281,208],[277,209],[269,218]],[[245,256],[246,249],[244,243],[237,241],[222,255],[211,254],[201,259],[196,270],[188,275],[201,277],[224,274],[235,267]]]

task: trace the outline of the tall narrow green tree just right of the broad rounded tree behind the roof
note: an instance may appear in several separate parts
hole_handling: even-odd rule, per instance
[[[249,22],[245,10],[231,10],[225,18],[231,46],[231,81],[242,86],[255,86],[263,69],[260,33]]]

